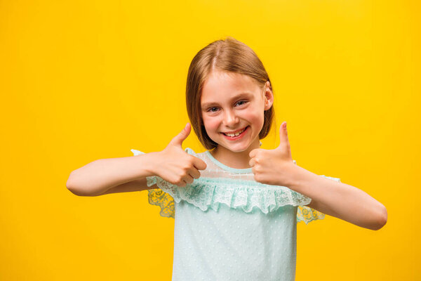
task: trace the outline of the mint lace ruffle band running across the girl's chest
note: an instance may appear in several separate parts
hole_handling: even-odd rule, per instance
[[[171,195],[175,202],[185,200],[202,211],[207,211],[209,208],[218,211],[220,204],[225,204],[233,209],[242,209],[246,213],[257,208],[267,214],[285,205],[300,206],[311,202],[311,198],[284,186],[231,178],[201,177],[180,188],[159,176],[147,177],[147,185],[150,187],[154,184]]]

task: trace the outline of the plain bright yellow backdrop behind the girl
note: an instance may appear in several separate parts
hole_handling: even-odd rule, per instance
[[[298,223],[296,280],[420,280],[419,15],[397,0],[0,1],[0,280],[171,280],[174,220],[146,191],[65,183],[165,148],[188,122],[189,63],[226,36],[267,68],[298,165],[387,207],[377,231]],[[194,133],[187,147],[203,151]]]

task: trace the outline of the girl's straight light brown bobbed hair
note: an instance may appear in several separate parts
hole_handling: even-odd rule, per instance
[[[203,125],[201,91],[204,82],[213,70],[245,74],[253,78],[261,87],[265,85],[266,81],[269,81],[272,89],[269,75],[258,55],[249,46],[233,37],[213,41],[196,53],[187,74],[187,114],[199,141],[208,150],[216,148],[218,143],[209,138]],[[259,139],[265,138],[269,133],[274,114],[274,105],[272,104],[269,110],[265,110],[265,121],[259,133]]]

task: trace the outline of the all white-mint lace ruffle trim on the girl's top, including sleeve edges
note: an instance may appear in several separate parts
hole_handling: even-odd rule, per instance
[[[134,155],[144,154],[139,150],[131,151]],[[320,176],[340,182],[340,178]],[[241,181],[241,186],[239,186],[239,181]],[[221,185],[222,183],[223,185]],[[179,188],[159,176],[147,177],[147,186],[150,187],[154,184],[159,188],[148,190],[149,204],[159,206],[161,209],[160,215],[167,218],[175,218],[174,200],[175,202],[186,200],[202,211],[206,211],[209,207],[218,211],[220,204],[225,204],[228,207],[243,209],[246,212],[250,212],[256,207],[265,214],[290,204],[298,206],[297,223],[304,221],[307,224],[325,217],[325,214],[305,206],[311,202],[311,198],[283,186],[265,185],[255,181],[230,178],[201,177],[194,179],[193,183]],[[256,188],[259,186],[260,188]],[[264,188],[261,188],[262,186]]]

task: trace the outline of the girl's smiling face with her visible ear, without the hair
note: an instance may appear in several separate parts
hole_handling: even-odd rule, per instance
[[[212,141],[232,152],[258,148],[264,111],[273,103],[268,86],[269,81],[261,88],[253,78],[235,72],[212,72],[201,93],[203,125]]]

